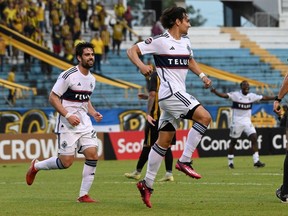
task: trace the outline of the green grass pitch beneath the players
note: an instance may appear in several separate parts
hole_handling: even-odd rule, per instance
[[[99,161],[90,195],[96,204],[76,203],[83,162],[67,170],[40,171],[32,186],[25,183],[28,163],[0,165],[0,215],[287,215],[275,190],[282,182],[284,156],[261,156],[265,168],[255,169],[252,157],[236,157],[235,169],[224,157],[194,160],[202,179],[195,180],[174,170],[175,182],[154,184],[152,208],[147,208],[136,181],[125,172],[136,161]],[[145,169],[142,172],[144,177]],[[164,162],[157,178],[164,175]]]

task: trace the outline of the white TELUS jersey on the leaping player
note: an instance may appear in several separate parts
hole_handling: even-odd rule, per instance
[[[191,42],[187,36],[175,40],[168,31],[137,43],[141,53],[153,54],[156,70],[161,80],[159,101],[178,91],[186,91],[189,59],[193,58]]]

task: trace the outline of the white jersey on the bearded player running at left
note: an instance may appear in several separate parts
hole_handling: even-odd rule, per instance
[[[92,122],[88,113],[88,101],[95,88],[95,77],[89,73],[83,75],[78,66],[69,68],[62,72],[52,91],[57,94],[65,109],[75,114],[80,119],[80,124],[76,127],[70,125],[67,119],[59,115],[55,127],[56,133],[64,132],[88,132],[93,130]]]

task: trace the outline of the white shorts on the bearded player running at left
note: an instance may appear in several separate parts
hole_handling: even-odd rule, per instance
[[[60,155],[74,155],[90,147],[98,148],[96,131],[85,133],[61,133],[58,134],[58,153]]]

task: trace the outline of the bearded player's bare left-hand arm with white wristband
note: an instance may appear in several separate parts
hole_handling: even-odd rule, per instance
[[[72,126],[77,126],[80,123],[78,116],[68,113],[68,111],[62,105],[60,97],[53,91],[51,91],[49,95],[49,102],[60,115],[64,116],[68,120]]]

